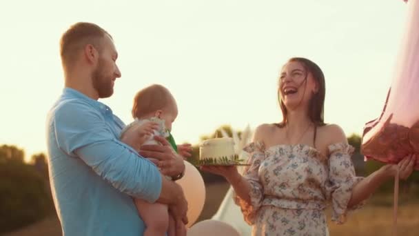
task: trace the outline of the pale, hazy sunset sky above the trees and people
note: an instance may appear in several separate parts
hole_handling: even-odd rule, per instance
[[[278,122],[280,68],[306,57],[325,73],[325,121],[361,134],[384,105],[406,14],[401,0],[2,1],[0,145],[46,152],[46,114],[63,90],[59,39],[79,21],[114,39],[122,77],[100,101],[126,124],[152,83],[176,98],[179,143]]]

